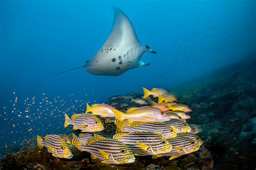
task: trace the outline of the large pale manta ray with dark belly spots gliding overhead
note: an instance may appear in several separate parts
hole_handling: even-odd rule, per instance
[[[142,55],[145,52],[157,52],[140,43],[130,19],[122,10],[112,8],[114,21],[109,36],[91,60],[75,69],[83,67],[87,72],[97,76],[119,76],[127,70],[150,65],[140,60]]]

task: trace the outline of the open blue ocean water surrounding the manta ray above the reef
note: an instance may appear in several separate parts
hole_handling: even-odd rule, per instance
[[[82,66],[104,43],[111,6],[157,51],[117,77]],[[63,112],[142,87],[172,90],[255,52],[255,1],[0,1],[0,147],[64,129]],[[42,104],[41,104],[42,103]],[[19,116],[21,114],[21,116]]]

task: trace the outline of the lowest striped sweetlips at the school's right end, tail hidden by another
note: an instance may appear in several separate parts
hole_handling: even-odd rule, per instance
[[[172,160],[174,158],[180,157],[181,155],[198,151],[198,149],[200,148],[199,141],[193,140],[191,138],[182,137],[182,136],[178,137],[178,135],[176,138],[168,139],[168,141],[175,148],[172,149],[170,152],[154,155],[154,157],[152,158],[171,156],[169,160]]]

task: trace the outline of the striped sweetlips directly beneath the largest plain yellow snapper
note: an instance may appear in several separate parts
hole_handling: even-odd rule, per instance
[[[123,132],[158,132],[164,138],[176,137],[175,128],[161,122],[142,122],[142,121],[126,121],[127,124],[120,120],[116,120],[116,133]]]

